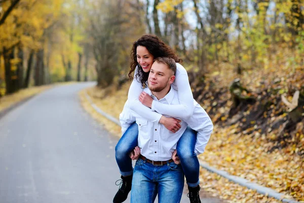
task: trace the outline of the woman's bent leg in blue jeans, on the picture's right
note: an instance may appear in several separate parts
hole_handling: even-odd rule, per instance
[[[187,127],[176,146],[177,155],[189,187],[196,187],[200,183],[200,163],[194,152],[196,140],[197,131]]]

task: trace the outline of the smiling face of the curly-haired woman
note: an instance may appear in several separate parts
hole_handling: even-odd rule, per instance
[[[138,46],[136,48],[137,62],[142,67],[143,72],[148,73],[153,64],[154,56],[150,54],[147,48]]]

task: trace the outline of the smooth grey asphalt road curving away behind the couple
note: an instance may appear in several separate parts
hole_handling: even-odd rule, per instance
[[[0,203],[112,202],[118,138],[81,107],[78,92],[92,85],[55,87],[0,118]]]

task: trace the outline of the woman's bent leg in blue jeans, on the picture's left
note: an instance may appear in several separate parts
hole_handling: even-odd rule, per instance
[[[121,175],[130,176],[133,173],[132,160],[129,153],[134,150],[137,144],[138,125],[131,124],[115,147],[115,158]]]

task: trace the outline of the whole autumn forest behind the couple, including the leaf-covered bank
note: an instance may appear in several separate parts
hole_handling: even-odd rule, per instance
[[[0,104],[55,82],[128,86],[143,33],[183,59],[215,124],[202,159],[304,201],[301,0],[0,0]]]

